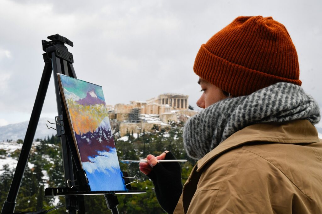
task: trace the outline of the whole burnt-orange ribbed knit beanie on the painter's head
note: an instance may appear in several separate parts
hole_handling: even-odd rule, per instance
[[[240,16],[203,44],[194,73],[234,97],[277,82],[301,85],[288,31],[272,17]]]

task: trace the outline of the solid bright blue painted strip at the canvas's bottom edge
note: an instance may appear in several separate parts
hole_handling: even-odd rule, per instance
[[[126,190],[121,176],[121,170],[115,170],[115,172],[109,171],[109,175],[96,170],[94,173],[86,172],[86,175],[90,181],[91,191]]]

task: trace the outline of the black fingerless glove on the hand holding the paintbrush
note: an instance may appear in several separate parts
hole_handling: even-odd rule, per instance
[[[168,152],[165,160],[174,160]],[[147,175],[155,186],[156,198],[167,213],[173,213],[182,193],[181,167],[178,162],[157,163]]]

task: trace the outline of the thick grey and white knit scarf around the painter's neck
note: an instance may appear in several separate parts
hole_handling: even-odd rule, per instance
[[[248,125],[297,119],[318,123],[319,106],[300,86],[279,82],[247,96],[221,100],[189,118],[184,128],[185,150],[200,159]]]

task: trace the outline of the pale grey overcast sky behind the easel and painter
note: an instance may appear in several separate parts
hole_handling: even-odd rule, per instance
[[[43,72],[41,40],[74,42],[78,79],[103,86],[106,103],[162,93],[201,95],[193,72],[201,46],[237,16],[272,16],[298,52],[300,79],[322,107],[322,1],[0,1],[0,126],[29,120]],[[57,115],[51,80],[41,117]],[[54,121],[54,119],[53,119]]]

